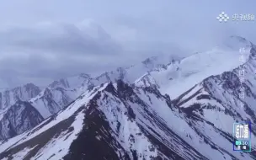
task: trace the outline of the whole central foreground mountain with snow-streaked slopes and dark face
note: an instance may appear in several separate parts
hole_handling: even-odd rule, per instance
[[[255,158],[232,152],[229,131],[175,107],[157,88],[122,81],[83,93],[0,148],[1,159]]]

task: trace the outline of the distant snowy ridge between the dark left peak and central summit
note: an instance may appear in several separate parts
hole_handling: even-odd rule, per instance
[[[88,74],[81,73],[74,77],[61,78],[44,88],[29,102],[35,106],[44,118],[56,114],[65,108],[79,95],[84,93],[92,79]]]

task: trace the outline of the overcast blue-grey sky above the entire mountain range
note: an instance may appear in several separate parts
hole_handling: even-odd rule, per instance
[[[216,20],[222,11],[256,15],[255,6],[254,0],[0,0],[0,88],[95,75],[157,54],[188,55],[228,35],[256,42],[256,21]]]

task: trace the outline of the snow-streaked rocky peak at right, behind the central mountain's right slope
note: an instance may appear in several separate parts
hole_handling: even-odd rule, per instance
[[[244,80],[240,79],[241,68],[237,67],[232,71],[222,72],[216,76],[205,78],[202,82],[196,84],[193,88],[181,94],[174,100],[179,107],[191,110],[200,110],[209,114],[209,109],[218,109],[215,114],[226,117],[226,125],[232,125],[234,121],[256,122],[256,88],[255,88],[255,67],[256,61],[250,59],[244,63]],[[242,90],[244,88],[244,91]],[[241,93],[243,93],[243,97]],[[196,107],[195,107],[196,106]],[[222,115],[222,114],[225,115]],[[204,114],[201,114],[204,115]],[[217,115],[216,120],[224,118]],[[205,116],[206,119],[214,120],[214,115]],[[227,121],[227,119],[230,119]],[[215,121],[214,124],[217,122]],[[223,127],[223,126],[220,126]],[[225,126],[226,127],[226,126]],[[255,127],[255,126],[253,126]],[[223,128],[222,128],[223,130]],[[227,127],[226,127],[227,130]],[[253,133],[256,135],[256,133]],[[254,143],[255,144],[255,143]]]

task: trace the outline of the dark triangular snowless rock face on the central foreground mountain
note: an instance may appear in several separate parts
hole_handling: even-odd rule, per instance
[[[72,142],[70,150],[64,160],[73,159],[113,159],[130,160],[128,155],[120,157],[125,149],[112,136],[109,122],[105,120],[104,114],[92,105],[85,111],[83,130]],[[87,145],[89,144],[89,145]]]

